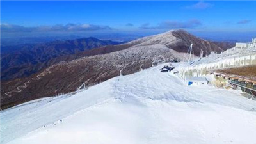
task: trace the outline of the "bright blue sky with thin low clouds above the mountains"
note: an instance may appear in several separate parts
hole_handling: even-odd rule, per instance
[[[1,30],[246,32],[255,10],[256,1],[1,1]]]

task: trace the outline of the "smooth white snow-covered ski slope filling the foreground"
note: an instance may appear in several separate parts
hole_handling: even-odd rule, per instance
[[[161,67],[1,111],[1,143],[256,143],[255,100]]]

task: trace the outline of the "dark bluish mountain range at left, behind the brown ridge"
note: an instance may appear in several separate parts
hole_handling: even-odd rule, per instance
[[[115,44],[121,43],[97,38],[81,38],[1,47],[1,79],[8,80],[30,76],[62,61],[61,56],[69,56],[104,45]]]

